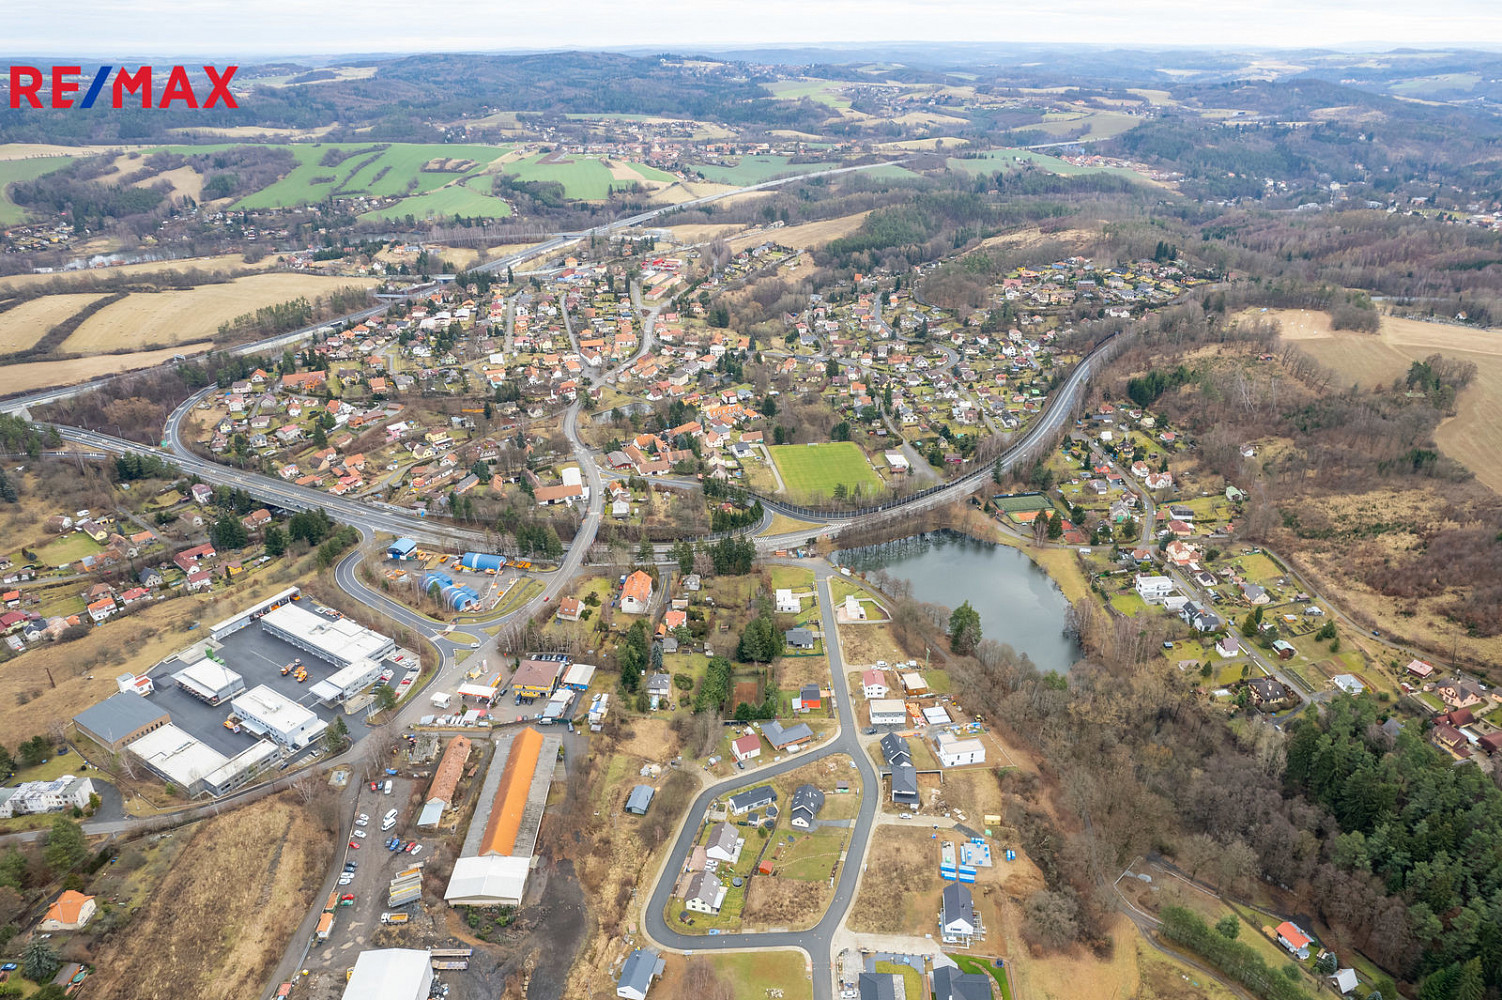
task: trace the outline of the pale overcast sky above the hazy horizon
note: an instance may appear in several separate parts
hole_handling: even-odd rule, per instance
[[[29,56],[832,42],[1502,47],[1502,0],[5,0]]]

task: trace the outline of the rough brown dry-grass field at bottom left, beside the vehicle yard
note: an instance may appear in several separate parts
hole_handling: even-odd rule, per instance
[[[327,832],[285,796],[204,820],[131,932],[101,950],[89,995],[230,1000],[260,992],[320,890],[332,848]]]

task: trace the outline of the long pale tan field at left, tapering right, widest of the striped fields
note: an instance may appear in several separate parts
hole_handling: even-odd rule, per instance
[[[376,278],[314,278],[311,275],[251,275],[186,291],[132,293],[89,317],[63,341],[63,351],[185,344],[213,336],[221,323],[260,306],[297,297],[314,299],[344,285],[371,288]]]

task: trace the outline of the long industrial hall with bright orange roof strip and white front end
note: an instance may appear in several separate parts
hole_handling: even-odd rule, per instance
[[[527,727],[496,742],[481,808],[443,898],[454,905],[520,905],[547,808],[560,737]],[[484,826],[481,815],[487,809]]]

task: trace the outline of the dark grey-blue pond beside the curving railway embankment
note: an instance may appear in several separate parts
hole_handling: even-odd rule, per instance
[[[1039,670],[1063,673],[1080,658],[1065,634],[1069,602],[1027,556],[958,532],[910,535],[835,553],[852,572],[885,569],[912,583],[913,598],[949,608],[969,601],[987,638],[1006,643]]]

